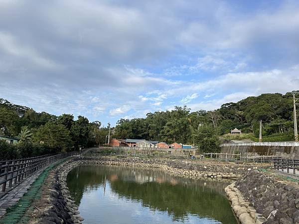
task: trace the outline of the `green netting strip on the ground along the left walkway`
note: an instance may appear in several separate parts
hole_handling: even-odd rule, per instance
[[[63,163],[67,159],[64,159],[58,163],[51,164],[48,166],[33,182],[28,192],[26,192],[23,197],[11,208],[9,208],[2,218],[0,218],[0,224],[26,224],[29,221],[29,217],[24,216],[25,212],[33,210],[30,208],[31,203],[40,198],[40,188],[44,180],[46,179],[49,171],[59,164]]]

